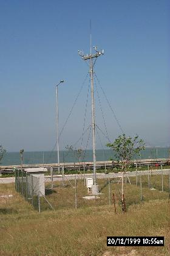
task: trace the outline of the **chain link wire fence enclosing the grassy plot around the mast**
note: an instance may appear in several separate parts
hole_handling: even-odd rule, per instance
[[[69,208],[87,208],[110,205],[114,212],[121,212],[123,207],[140,204],[155,199],[170,197],[170,169],[152,169],[145,171],[140,167],[136,171],[97,173],[99,194],[92,194],[88,180],[93,180],[88,170],[79,174],[58,174],[58,168],[48,169],[44,178],[45,193],[37,184],[40,178],[32,177],[24,171],[15,171],[16,191],[22,194],[39,212],[44,210],[63,210]]]

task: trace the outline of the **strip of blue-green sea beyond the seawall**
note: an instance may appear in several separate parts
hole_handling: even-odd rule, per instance
[[[115,153],[112,149],[97,149],[97,161],[115,160]],[[141,151],[140,156],[135,156],[134,159],[149,159],[149,158],[170,158],[170,148],[146,148]],[[91,149],[78,154],[76,151],[60,151],[60,163],[73,162],[92,162],[93,152]],[[21,158],[19,152],[6,152],[1,161],[1,165],[20,165]],[[40,164],[40,163],[58,163],[56,151],[31,151],[24,152],[23,163]]]

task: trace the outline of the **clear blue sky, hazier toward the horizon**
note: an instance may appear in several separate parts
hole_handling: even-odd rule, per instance
[[[168,0],[1,0],[0,144],[7,151],[54,148],[55,85],[63,79],[60,131],[73,110],[60,149],[92,148],[89,66],[78,55],[90,53],[91,31],[92,46],[104,49],[94,66],[97,148],[123,132],[169,146],[169,10]]]

